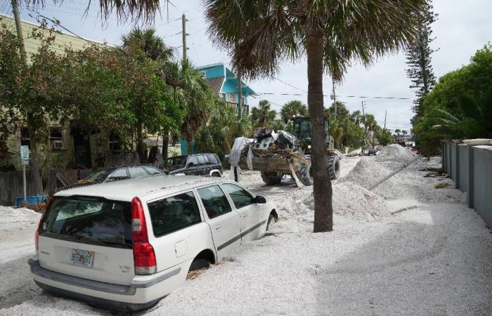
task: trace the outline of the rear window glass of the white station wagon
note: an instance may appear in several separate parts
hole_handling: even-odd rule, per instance
[[[40,233],[72,242],[131,248],[131,204],[98,197],[54,197]]]

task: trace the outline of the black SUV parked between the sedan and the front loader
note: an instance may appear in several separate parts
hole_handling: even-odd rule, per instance
[[[188,154],[167,159],[167,174],[220,177],[223,171],[222,163],[216,154]]]

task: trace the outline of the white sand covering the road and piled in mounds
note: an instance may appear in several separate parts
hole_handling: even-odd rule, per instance
[[[492,315],[492,234],[451,180],[419,171],[439,161],[418,162],[374,192],[363,188],[407,158],[396,147],[360,162],[342,159],[335,228],[318,234],[311,187],[298,189],[287,177],[266,186],[259,173],[243,171],[244,185],[278,204],[278,223],[145,314]],[[442,181],[452,187],[435,189]],[[0,264],[0,315],[110,315],[42,294],[27,255]]]

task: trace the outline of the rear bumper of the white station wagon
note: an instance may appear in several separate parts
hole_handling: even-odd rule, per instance
[[[119,285],[51,271],[42,268],[39,261],[33,259],[28,263],[34,282],[48,293],[75,298],[110,310],[136,311],[149,308],[186,279],[186,272],[181,268],[171,268],[156,275],[138,276],[131,285]]]

